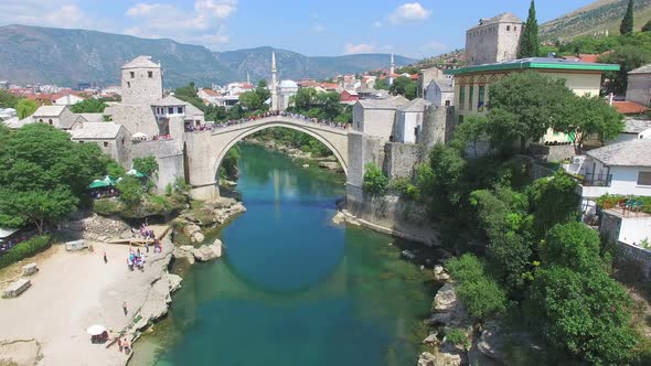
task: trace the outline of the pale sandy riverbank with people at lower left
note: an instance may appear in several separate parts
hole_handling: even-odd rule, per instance
[[[93,251],[78,252],[56,245],[39,255],[32,287],[17,299],[0,300],[0,365],[126,365],[130,355],[119,353],[117,345],[92,344],[86,329],[103,324],[120,331],[141,319],[130,326],[135,332],[167,313],[180,278],[167,272],[172,243],[164,238],[161,244],[162,252],[146,254],[143,271],[128,270],[126,245],[93,243]],[[108,263],[103,261],[105,250]],[[12,273],[3,271],[0,281]],[[17,340],[35,342],[11,343]]]

